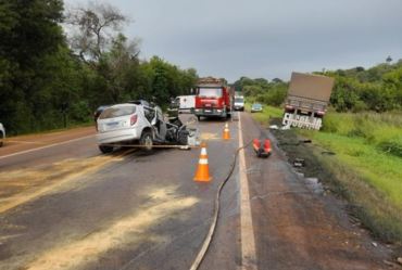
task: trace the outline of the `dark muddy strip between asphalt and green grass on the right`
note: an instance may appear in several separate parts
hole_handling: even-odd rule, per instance
[[[271,124],[280,126],[280,119],[271,119]],[[356,195],[352,194],[348,188],[362,191],[361,196],[365,196],[365,198],[360,200],[360,202],[378,201],[378,194],[374,194],[374,191],[367,184],[359,181],[359,179],[353,179],[353,175],[349,175],[350,171],[343,168],[341,164],[337,164],[336,153],[299,137],[294,130],[271,130],[271,133],[275,137],[277,146],[284,152],[293,169],[304,178],[316,179],[323,189],[323,194],[336,200],[341,210],[347,214],[352,227],[359,228],[360,232],[372,239],[372,245],[376,248],[379,243],[386,247],[390,252],[386,262],[390,262],[390,267],[400,269],[397,259],[402,257],[401,245],[391,244],[381,237],[381,233],[370,230],[373,228],[373,217],[368,217],[363,207],[356,204],[356,201],[359,202],[354,197]],[[350,179],[349,187],[344,184],[344,179],[341,181],[339,178]]]

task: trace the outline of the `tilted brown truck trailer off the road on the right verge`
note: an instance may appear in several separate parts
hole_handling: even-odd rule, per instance
[[[334,78],[292,73],[282,124],[319,130],[334,87]]]

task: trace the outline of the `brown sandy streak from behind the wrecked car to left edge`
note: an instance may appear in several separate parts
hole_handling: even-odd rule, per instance
[[[96,156],[86,159],[66,159],[42,169],[12,170],[0,175],[0,213],[38,198],[45,194],[74,188],[80,177],[99,170],[118,156]]]

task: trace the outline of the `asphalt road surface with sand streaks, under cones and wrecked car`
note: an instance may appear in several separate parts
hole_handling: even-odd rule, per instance
[[[244,143],[269,136],[241,115]],[[239,145],[238,121],[229,123],[228,141],[224,125],[200,123],[209,183],[192,180],[199,149],[101,155],[93,128],[8,142],[0,149],[0,269],[189,269]],[[201,269],[386,269],[387,248],[374,247],[278,149],[268,159],[250,147],[244,156],[223,192]]]

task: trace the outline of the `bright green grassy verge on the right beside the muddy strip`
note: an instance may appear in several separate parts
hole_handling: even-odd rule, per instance
[[[402,113],[329,112],[319,132],[280,132],[312,139],[309,151],[322,167],[322,180],[348,200],[375,236],[402,244]]]

